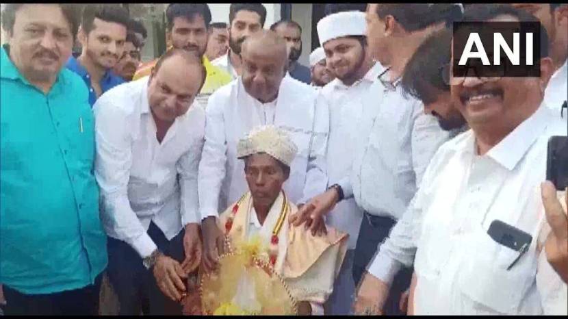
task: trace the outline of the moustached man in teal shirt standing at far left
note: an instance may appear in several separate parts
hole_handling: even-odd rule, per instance
[[[0,283],[8,315],[96,315],[106,237],[70,4],[8,3],[0,49]]]

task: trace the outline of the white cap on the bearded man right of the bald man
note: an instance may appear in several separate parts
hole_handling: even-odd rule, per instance
[[[365,36],[366,29],[364,12],[337,12],[318,22],[318,37],[323,46],[325,42],[342,36]]]

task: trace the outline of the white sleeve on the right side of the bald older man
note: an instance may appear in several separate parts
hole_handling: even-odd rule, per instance
[[[307,203],[327,188],[326,153],[329,136],[329,109],[324,99],[315,100],[313,136],[311,137],[304,195],[298,202]]]

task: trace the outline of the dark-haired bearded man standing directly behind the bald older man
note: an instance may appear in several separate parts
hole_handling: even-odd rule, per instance
[[[229,7],[229,51],[211,64],[227,71],[233,79],[242,74],[241,47],[249,36],[261,31],[266,8],[261,3],[231,3]]]

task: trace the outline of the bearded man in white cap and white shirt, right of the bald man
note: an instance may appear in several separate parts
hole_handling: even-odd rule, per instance
[[[372,60],[365,37],[365,13],[347,11],[330,14],[318,22],[318,36],[326,65],[336,78],[320,91],[330,114],[327,149],[328,184],[348,175],[357,144],[357,127],[363,114],[363,97],[383,66]],[[354,199],[337,203],[326,224],[349,233],[348,251],[328,299],[326,314],[348,315],[355,290],[352,268],[355,244],[363,210]]]

